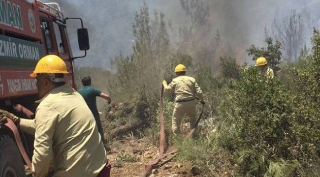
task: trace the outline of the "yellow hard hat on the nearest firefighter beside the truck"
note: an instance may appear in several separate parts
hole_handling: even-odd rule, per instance
[[[68,71],[63,59],[56,55],[47,55],[38,61],[30,77],[36,77],[37,74],[68,74]]]

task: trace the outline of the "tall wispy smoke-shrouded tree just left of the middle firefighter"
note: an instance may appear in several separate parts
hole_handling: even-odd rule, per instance
[[[148,99],[159,92],[163,61],[168,55],[169,37],[166,31],[164,15],[155,12],[149,15],[146,3],[135,14],[132,26],[134,45],[130,56],[119,55],[112,60],[118,73],[114,82],[117,95],[127,99],[140,93]]]

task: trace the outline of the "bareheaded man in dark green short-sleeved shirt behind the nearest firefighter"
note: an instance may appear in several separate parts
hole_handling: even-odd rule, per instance
[[[105,94],[105,93],[101,92],[100,90],[91,87],[90,76],[85,76],[84,78],[82,78],[81,81],[82,81],[83,88],[79,89],[79,93],[85,99],[89,109],[91,110],[92,114],[94,115],[94,117],[96,119],[96,126],[97,126],[98,131],[101,135],[102,142],[106,146],[99,112],[98,112],[98,109],[96,108],[96,97],[99,96],[99,97],[106,99],[109,104],[111,103],[111,98],[108,94]]]

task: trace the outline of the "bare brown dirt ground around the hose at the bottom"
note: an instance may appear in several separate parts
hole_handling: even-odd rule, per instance
[[[114,143],[111,149],[107,158],[112,164],[112,177],[141,177],[145,164],[159,154],[158,148],[150,147],[147,141],[130,137]],[[191,163],[182,164],[173,159],[159,169],[153,169],[149,177],[196,177],[191,169]]]

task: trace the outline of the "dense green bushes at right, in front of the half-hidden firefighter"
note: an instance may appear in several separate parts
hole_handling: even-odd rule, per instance
[[[237,157],[243,176],[316,176],[320,162],[319,31],[305,67],[290,83],[244,69],[219,122],[217,145]],[[294,76],[294,77],[292,77]]]

